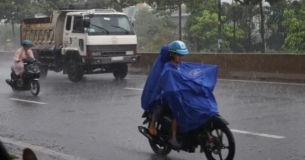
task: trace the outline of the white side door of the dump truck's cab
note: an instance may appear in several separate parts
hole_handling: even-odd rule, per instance
[[[67,16],[63,37],[64,50],[77,50],[81,56],[86,56],[85,30],[82,16]],[[62,52],[65,53],[65,52]]]

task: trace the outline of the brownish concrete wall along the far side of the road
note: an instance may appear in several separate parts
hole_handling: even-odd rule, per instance
[[[158,53],[139,53],[130,71],[148,74]],[[305,54],[190,53],[185,61],[219,66],[219,78],[297,81],[305,83]]]

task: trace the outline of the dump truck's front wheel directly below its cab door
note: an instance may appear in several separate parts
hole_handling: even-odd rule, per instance
[[[76,59],[71,58],[69,60],[67,70],[68,70],[68,77],[72,82],[79,82],[84,75]]]

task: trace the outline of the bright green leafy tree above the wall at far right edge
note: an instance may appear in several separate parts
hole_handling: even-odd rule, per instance
[[[301,10],[296,15],[294,10],[285,10],[283,26],[288,31],[283,49],[291,50],[292,53],[305,52],[305,11]]]

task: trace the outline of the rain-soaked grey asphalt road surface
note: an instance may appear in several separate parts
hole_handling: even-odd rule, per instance
[[[40,159],[206,159],[184,151],[155,156],[137,129],[146,77],[86,75],[73,83],[49,72],[35,98],[5,83],[11,62],[4,60],[11,59],[0,60],[0,138],[11,152],[21,154],[28,143]],[[218,81],[215,97],[234,131],[235,159],[305,159],[304,91],[305,85]]]

